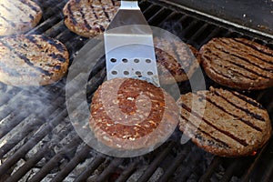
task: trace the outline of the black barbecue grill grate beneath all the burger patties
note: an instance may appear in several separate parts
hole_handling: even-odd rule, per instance
[[[63,22],[67,1],[37,0],[44,15],[27,34],[63,42],[72,62],[88,39],[70,32]],[[149,25],[164,28],[197,49],[213,37],[246,37],[273,48],[272,35],[198,14],[175,1],[140,1]],[[106,76],[104,61],[89,76],[90,101]],[[180,83],[187,92],[189,83]],[[206,77],[206,86],[218,86]],[[223,87],[223,86],[221,86]],[[175,131],[155,151],[140,157],[108,157],[87,146],[76,134],[66,110],[66,78],[51,86],[6,86],[0,83],[0,181],[270,181],[273,139],[250,157],[213,156],[190,141],[180,144]],[[273,120],[272,88],[239,91],[261,103]]]

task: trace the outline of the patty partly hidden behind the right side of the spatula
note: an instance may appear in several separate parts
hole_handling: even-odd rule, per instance
[[[181,41],[154,38],[158,76],[161,84],[174,84],[188,80],[199,67],[199,52]]]

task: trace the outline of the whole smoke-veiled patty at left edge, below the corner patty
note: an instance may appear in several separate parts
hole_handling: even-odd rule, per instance
[[[0,81],[5,84],[51,84],[66,74],[68,61],[66,46],[44,35],[0,38]]]

